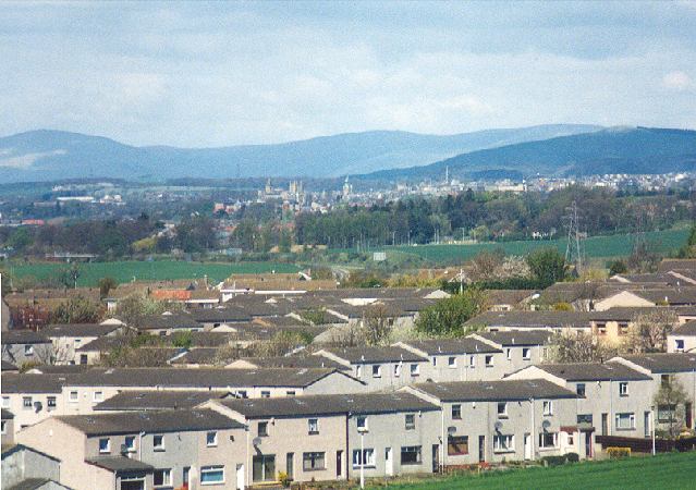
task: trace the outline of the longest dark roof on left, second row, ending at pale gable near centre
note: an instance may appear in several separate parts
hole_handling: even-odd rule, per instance
[[[75,387],[143,387],[227,389],[245,387],[305,388],[340,372],[335,369],[224,369],[224,368],[99,368],[76,375]],[[36,376],[36,375],[35,375]]]

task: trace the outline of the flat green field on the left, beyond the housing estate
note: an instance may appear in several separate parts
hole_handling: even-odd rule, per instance
[[[20,264],[5,266],[16,278],[34,277],[48,279],[59,277],[70,267],[58,262]],[[234,273],[261,273],[276,271],[297,272],[300,268],[292,264],[277,262],[187,262],[176,260],[156,261],[117,261],[80,264],[78,286],[94,286],[99,279],[111,277],[119,283],[136,280],[163,281],[169,279],[195,279],[208,275],[211,282],[219,282]]]

